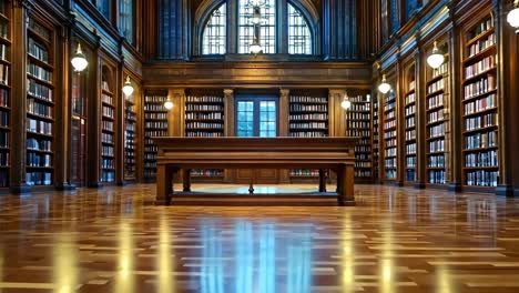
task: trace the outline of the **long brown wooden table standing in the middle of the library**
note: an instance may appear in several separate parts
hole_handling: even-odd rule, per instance
[[[354,138],[153,138],[159,146],[156,204],[170,204],[173,176],[189,169],[330,169],[337,201],[355,205]],[[319,191],[324,188],[320,173]],[[184,189],[190,190],[189,172]]]

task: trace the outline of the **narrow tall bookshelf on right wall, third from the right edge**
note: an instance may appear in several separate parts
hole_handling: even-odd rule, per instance
[[[405,101],[405,144],[406,144],[406,181],[414,182],[416,181],[416,162],[417,162],[417,141],[416,141],[416,78],[415,78],[415,67],[411,67],[409,70],[409,77],[407,79],[407,92],[404,97]]]

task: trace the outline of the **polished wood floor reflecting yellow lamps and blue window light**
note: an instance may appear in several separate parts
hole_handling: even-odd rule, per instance
[[[353,208],[153,199],[1,195],[0,292],[519,292],[519,200],[380,185]]]

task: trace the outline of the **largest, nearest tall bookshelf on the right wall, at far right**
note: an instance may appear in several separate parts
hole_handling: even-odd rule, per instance
[[[491,17],[467,31],[464,43],[464,130],[465,185],[497,186],[498,95],[497,46]]]

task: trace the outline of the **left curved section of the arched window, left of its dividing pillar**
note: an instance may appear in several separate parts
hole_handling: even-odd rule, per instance
[[[202,54],[225,54],[227,30],[227,6],[221,4],[213,11],[202,37]]]

